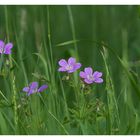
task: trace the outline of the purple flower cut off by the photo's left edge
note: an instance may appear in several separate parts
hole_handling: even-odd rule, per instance
[[[11,54],[11,49],[13,48],[12,43],[5,44],[2,40],[0,40],[0,54]]]

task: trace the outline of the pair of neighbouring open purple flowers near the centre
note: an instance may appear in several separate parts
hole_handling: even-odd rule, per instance
[[[76,59],[73,57],[70,57],[68,62],[65,59],[61,59],[58,63],[60,65],[58,71],[67,73],[73,73],[82,66],[81,63],[76,63]],[[79,75],[86,84],[103,82],[103,79],[101,78],[102,72],[93,72],[91,67],[85,68],[84,71],[81,71]]]

